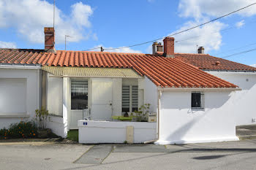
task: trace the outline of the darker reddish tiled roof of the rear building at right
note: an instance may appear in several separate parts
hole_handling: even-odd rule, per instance
[[[236,63],[222,58],[217,58],[208,54],[176,53],[175,57],[181,61],[190,63],[193,66],[197,66],[199,69],[256,71],[255,67],[246,66],[242,63]],[[216,63],[218,61],[219,64]]]

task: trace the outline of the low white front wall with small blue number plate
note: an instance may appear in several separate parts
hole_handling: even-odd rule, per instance
[[[79,143],[124,143],[127,126],[134,127],[134,143],[157,138],[156,123],[79,120]]]

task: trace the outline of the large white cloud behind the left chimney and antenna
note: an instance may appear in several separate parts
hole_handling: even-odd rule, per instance
[[[78,2],[71,6],[71,15],[64,15],[56,7],[56,43],[64,43],[64,35],[72,36],[69,42],[79,42],[88,35],[89,18],[93,9]],[[17,34],[33,43],[43,43],[45,26],[53,26],[53,4],[42,0],[1,0],[0,28],[15,28]]]

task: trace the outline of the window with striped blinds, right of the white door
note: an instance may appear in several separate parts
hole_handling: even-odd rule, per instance
[[[138,85],[123,85],[122,112],[138,110]]]

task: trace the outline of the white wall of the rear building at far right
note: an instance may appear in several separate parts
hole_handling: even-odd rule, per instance
[[[230,108],[230,112],[236,115],[236,125],[256,124],[256,73],[255,72],[208,72],[232,82],[241,88],[236,91],[235,108]]]

